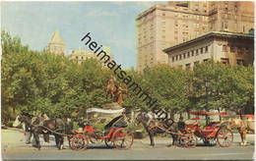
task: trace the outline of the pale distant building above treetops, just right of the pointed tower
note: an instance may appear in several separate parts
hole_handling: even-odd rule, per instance
[[[103,51],[106,52],[107,55],[110,56],[110,60],[113,60],[114,57],[110,54],[110,47],[109,46],[103,46],[102,47]],[[89,51],[89,50],[84,50],[84,49],[77,49],[77,50],[72,50],[71,55],[69,55],[70,60],[76,61],[78,64],[82,64],[85,60],[87,59],[97,59],[96,53]],[[104,66],[104,64],[102,63]]]

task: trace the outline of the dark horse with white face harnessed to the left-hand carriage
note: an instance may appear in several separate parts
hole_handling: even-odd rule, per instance
[[[29,114],[22,113],[17,116],[17,120],[21,123],[25,123],[31,128],[32,135],[35,139],[35,147],[40,149],[39,134],[53,134],[55,136],[55,142],[58,149],[63,148],[64,136],[66,124],[61,119],[50,119],[43,121],[40,117],[33,117]],[[13,127],[19,126],[19,123],[15,123]]]

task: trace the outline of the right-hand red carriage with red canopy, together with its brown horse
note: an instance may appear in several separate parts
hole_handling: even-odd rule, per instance
[[[211,116],[221,115],[219,113],[209,112],[192,112],[191,114]],[[170,119],[171,120],[171,119]],[[172,145],[178,145],[182,147],[195,147],[197,145],[197,139],[200,138],[205,144],[209,145],[213,142],[218,142],[221,147],[228,147],[233,141],[233,134],[231,130],[227,129],[221,122],[212,122],[206,126],[201,126],[200,118],[193,118],[194,123],[185,124],[183,120],[179,122],[171,121],[168,126],[164,125],[164,122],[158,121],[158,119],[150,119],[145,114],[140,114],[137,117],[137,121],[142,123],[147,129],[150,135],[151,145],[155,145],[154,134],[171,134]]]

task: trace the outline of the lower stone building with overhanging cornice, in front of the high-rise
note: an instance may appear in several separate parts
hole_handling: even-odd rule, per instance
[[[192,70],[195,64],[213,59],[230,65],[252,65],[254,35],[211,31],[163,50],[171,67]]]

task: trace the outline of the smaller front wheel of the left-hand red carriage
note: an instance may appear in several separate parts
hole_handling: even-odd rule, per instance
[[[70,148],[73,150],[80,150],[87,148],[89,144],[87,136],[83,134],[76,134],[69,139]]]

